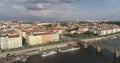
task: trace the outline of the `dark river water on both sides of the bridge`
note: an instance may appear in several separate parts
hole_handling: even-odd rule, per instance
[[[119,48],[120,38],[113,39],[108,42],[101,42],[101,44]],[[29,57],[26,63],[120,63],[119,59],[115,60],[108,56],[98,55],[93,52],[81,48],[77,51],[57,53],[48,57],[35,55]],[[108,52],[106,54],[108,54]]]

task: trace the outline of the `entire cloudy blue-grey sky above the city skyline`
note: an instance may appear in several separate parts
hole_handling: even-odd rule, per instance
[[[120,0],[0,0],[0,20],[120,20]]]

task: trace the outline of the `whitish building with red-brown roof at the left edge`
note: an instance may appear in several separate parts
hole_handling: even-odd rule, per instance
[[[0,33],[0,48],[14,49],[22,47],[22,37],[17,33]]]

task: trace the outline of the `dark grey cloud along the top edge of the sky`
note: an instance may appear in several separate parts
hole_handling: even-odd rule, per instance
[[[72,4],[78,0],[9,0],[12,4],[19,4],[28,10],[46,10],[61,4]]]

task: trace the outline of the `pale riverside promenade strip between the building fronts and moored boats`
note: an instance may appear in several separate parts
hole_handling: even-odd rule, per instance
[[[77,45],[77,44],[73,41],[69,41],[69,42],[60,42],[60,43],[56,43],[56,44],[38,46],[38,47],[27,48],[27,49],[20,49],[20,50],[16,50],[16,51],[8,51],[8,52],[0,53],[0,58],[6,58],[8,54],[9,54],[9,56],[18,56],[18,55],[23,55],[28,51],[37,50],[37,51],[41,52],[41,51],[45,51],[45,50],[66,47],[68,45]]]

